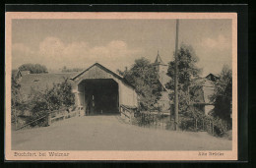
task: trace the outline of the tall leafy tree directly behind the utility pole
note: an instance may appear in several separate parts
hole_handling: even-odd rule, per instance
[[[173,54],[174,55],[174,54]],[[178,50],[178,99],[179,111],[187,112],[190,104],[192,86],[198,86],[193,82],[193,79],[198,78],[201,69],[196,66],[199,58],[192,46],[182,44]],[[174,90],[174,72],[175,62],[171,61],[168,64],[167,75],[170,77],[170,82],[166,84],[166,88]],[[174,92],[170,93],[170,99],[174,99]]]

